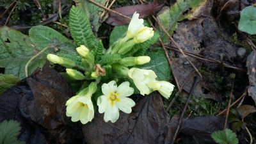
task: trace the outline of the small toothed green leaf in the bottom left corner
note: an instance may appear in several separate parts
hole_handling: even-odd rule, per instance
[[[0,141],[3,144],[7,143],[24,143],[23,141],[17,141],[21,127],[19,122],[14,120],[4,120],[0,124]]]

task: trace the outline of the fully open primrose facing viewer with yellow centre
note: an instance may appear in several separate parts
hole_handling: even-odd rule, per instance
[[[97,100],[99,113],[104,113],[104,121],[116,122],[119,117],[119,109],[124,113],[131,113],[131,107],[135,106],[135,102],[128,97],[132,95],[134,89],[129,87],[129,82],[117,86],[115,81],[108,84],[102,84],[102,93]]]

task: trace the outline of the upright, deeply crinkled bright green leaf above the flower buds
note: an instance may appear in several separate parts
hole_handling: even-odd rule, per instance
[[[70,10],[69,26],[77,47],[84,45],[90,50],[96,49],[97,38],[93,35],[90,20],[76,6],[72,6]]]

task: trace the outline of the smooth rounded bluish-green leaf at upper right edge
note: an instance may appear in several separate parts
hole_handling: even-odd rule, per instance
[[[251,35],[256,34],[256,7],[247,6],[241,12],[238,29]]]

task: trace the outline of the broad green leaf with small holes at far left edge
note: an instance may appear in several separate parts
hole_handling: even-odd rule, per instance
[[[0,67],[5,68],[4,74],[23,79],[25,77],[25,65],[35,54],[40,51],[33,47],[35,45],[28,35],[8,27],[0,28]],[[28,72],[31,74],[36,68],[43,67],[45,56],[40,55],[31,61]]]

